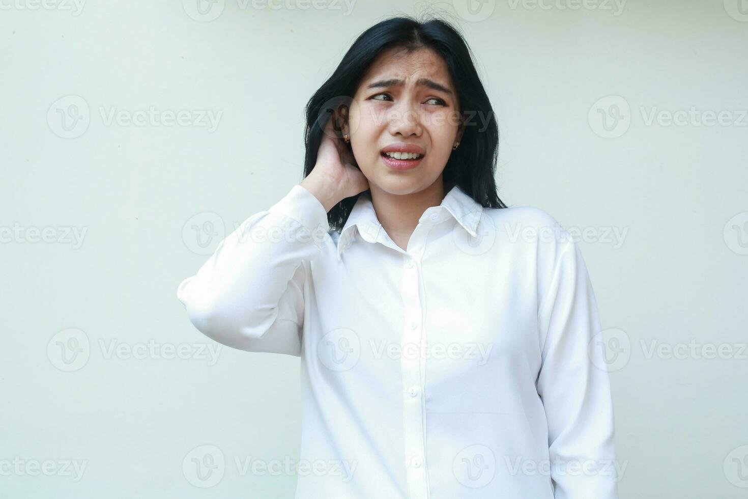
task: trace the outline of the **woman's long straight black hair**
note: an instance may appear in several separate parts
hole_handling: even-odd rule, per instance
[[[364,31],[343,56],[334,73],[315,92],[306,106],[304,132],[306,156],[304,177],[316,165],[325,124],[337,106],[352,100],[361,78],[382,52],[393,49],[413,52],[432,49],[444,59],[457,90],[465,131],[460,145],[453,150],[444,167],[444,192],[459,186],[485,208],[506,208],[499,199],[494,174],[499,144],[499,129],[491,102],[473,65],[472,53],[462,34],[442,19],[419,21],[411,16],[384,19]],[[350,143],[347,144],[348,147]],[[346,223],[358,195],[346,198],[328,212],[331,230],[340,231]]]

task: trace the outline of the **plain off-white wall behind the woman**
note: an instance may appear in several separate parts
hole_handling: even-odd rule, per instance
[[[292,497],[245,465],[298,459],[298,358],[219,348],[177,285],[301,180],[355,37],[446,10],[500,197],[583,231],[620,497],[744,498],[747,2],[263,5],[0,0],[0,496]]]

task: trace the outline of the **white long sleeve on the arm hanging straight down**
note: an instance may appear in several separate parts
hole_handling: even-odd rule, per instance
[[[617,499],[613,400],[587,269],[573,239],[557,243],[539,306],[542,366],[537,380],[548,420],[556,499]]]

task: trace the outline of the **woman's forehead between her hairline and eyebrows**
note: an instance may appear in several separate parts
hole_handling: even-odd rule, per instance
[[[384,76],[406,81],[429,76],[453,88],[447,64],[444,64],[444,59],[431,49],[417,49],[413,52],[405,52],[404,49],[389,49],[375,59],[361,84],[365,85],[371,80]]]

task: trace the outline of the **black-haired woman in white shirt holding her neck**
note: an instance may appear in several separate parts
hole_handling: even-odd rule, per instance
[[[296,498],[616,499],[586,267],[499,200],[497,141],[461,35],[379,22],[307,105],[304,180],[180,284],[207,336],[301,358]]]

